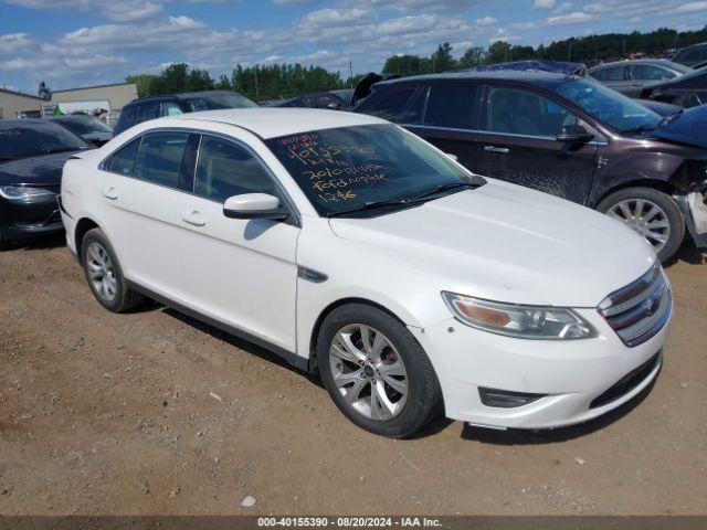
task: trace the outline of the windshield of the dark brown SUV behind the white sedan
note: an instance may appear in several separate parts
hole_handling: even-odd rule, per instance
[[[594,81],[569,81],[555,92],[619,132],[653,130],[661,123],[658,114]]]

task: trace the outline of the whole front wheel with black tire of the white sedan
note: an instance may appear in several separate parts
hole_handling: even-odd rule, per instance
[[[381,309],[363,304],[334,309],[319,329],[316,356],[335,404],[366,431],[407,437],[441,409],[440,383],[422,346]]]

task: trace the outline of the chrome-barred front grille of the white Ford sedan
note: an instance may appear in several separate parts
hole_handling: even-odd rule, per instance
[[[615,290],[599,305],[599,312],[629,348],[654,337],[673,307],[671,288],[659,264],[635,282]]]

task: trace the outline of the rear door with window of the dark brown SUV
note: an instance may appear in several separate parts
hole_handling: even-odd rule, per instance
[[[408,129],[450,155],[474,172],[481,169],[478,120],[481,85],[433,84],[425,87],[423,117]]]

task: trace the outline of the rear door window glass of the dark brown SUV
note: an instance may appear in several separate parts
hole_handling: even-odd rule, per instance
[[[428,96],[424,124],[469,129],[475,102],[476,86],[433,85]]]

